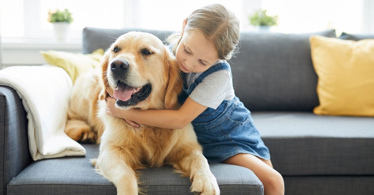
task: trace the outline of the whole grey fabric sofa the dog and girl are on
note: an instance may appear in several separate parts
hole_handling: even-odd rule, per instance
[[[107,48],[111,37],[130,30],[85,28],[82,52]],[[138,30],[161,40],[172,33]],[[335,37],[334,30],[315,34]],[[235,92],[252,111],[274,168],[284,177],[286,195],[373,194],[374,118],[312,113],[319,101],[310,35],[243,32],[240,53],[230,62]],[[345,38],[357,38],[349,36]],[[21,100],[14,89],[0,86],[0,194],[116,194],[89,163],[98,146],[82,145],[84,157],[33,161]],[[263,194],[251,170],[210,166],[222,195]],[[147,194],[191,194],[189,179],[171,167],[142,170],[140,180]]]

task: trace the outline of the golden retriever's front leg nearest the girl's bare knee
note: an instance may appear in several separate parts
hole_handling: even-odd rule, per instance
[[[217,179],[209,169],[206,158],[200,151],[192,151],[191,155],[178,163],[180,169],[190,173],[191,192],[200,192],[201,195],[219,195]]]

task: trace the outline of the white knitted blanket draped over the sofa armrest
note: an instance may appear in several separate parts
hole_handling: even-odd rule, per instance
[[[0,85],[15,89],[27,112],[33,160],[81,156],[85,148],[64,132],[72,82],[55,66],[13,66],[0,70]]]

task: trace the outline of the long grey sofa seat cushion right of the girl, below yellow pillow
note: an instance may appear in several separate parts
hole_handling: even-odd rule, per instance
[[[374,175],[374,118],[252,112],[283,176]]]

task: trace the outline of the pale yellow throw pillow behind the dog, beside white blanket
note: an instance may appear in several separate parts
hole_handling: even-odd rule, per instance
[[[69,74],[71,81],[99,64],[99,60],[104,55],[103,49],[97,49],[91,54],[69,53],[64,51],[40,51],[47,63],[62,67]]]

